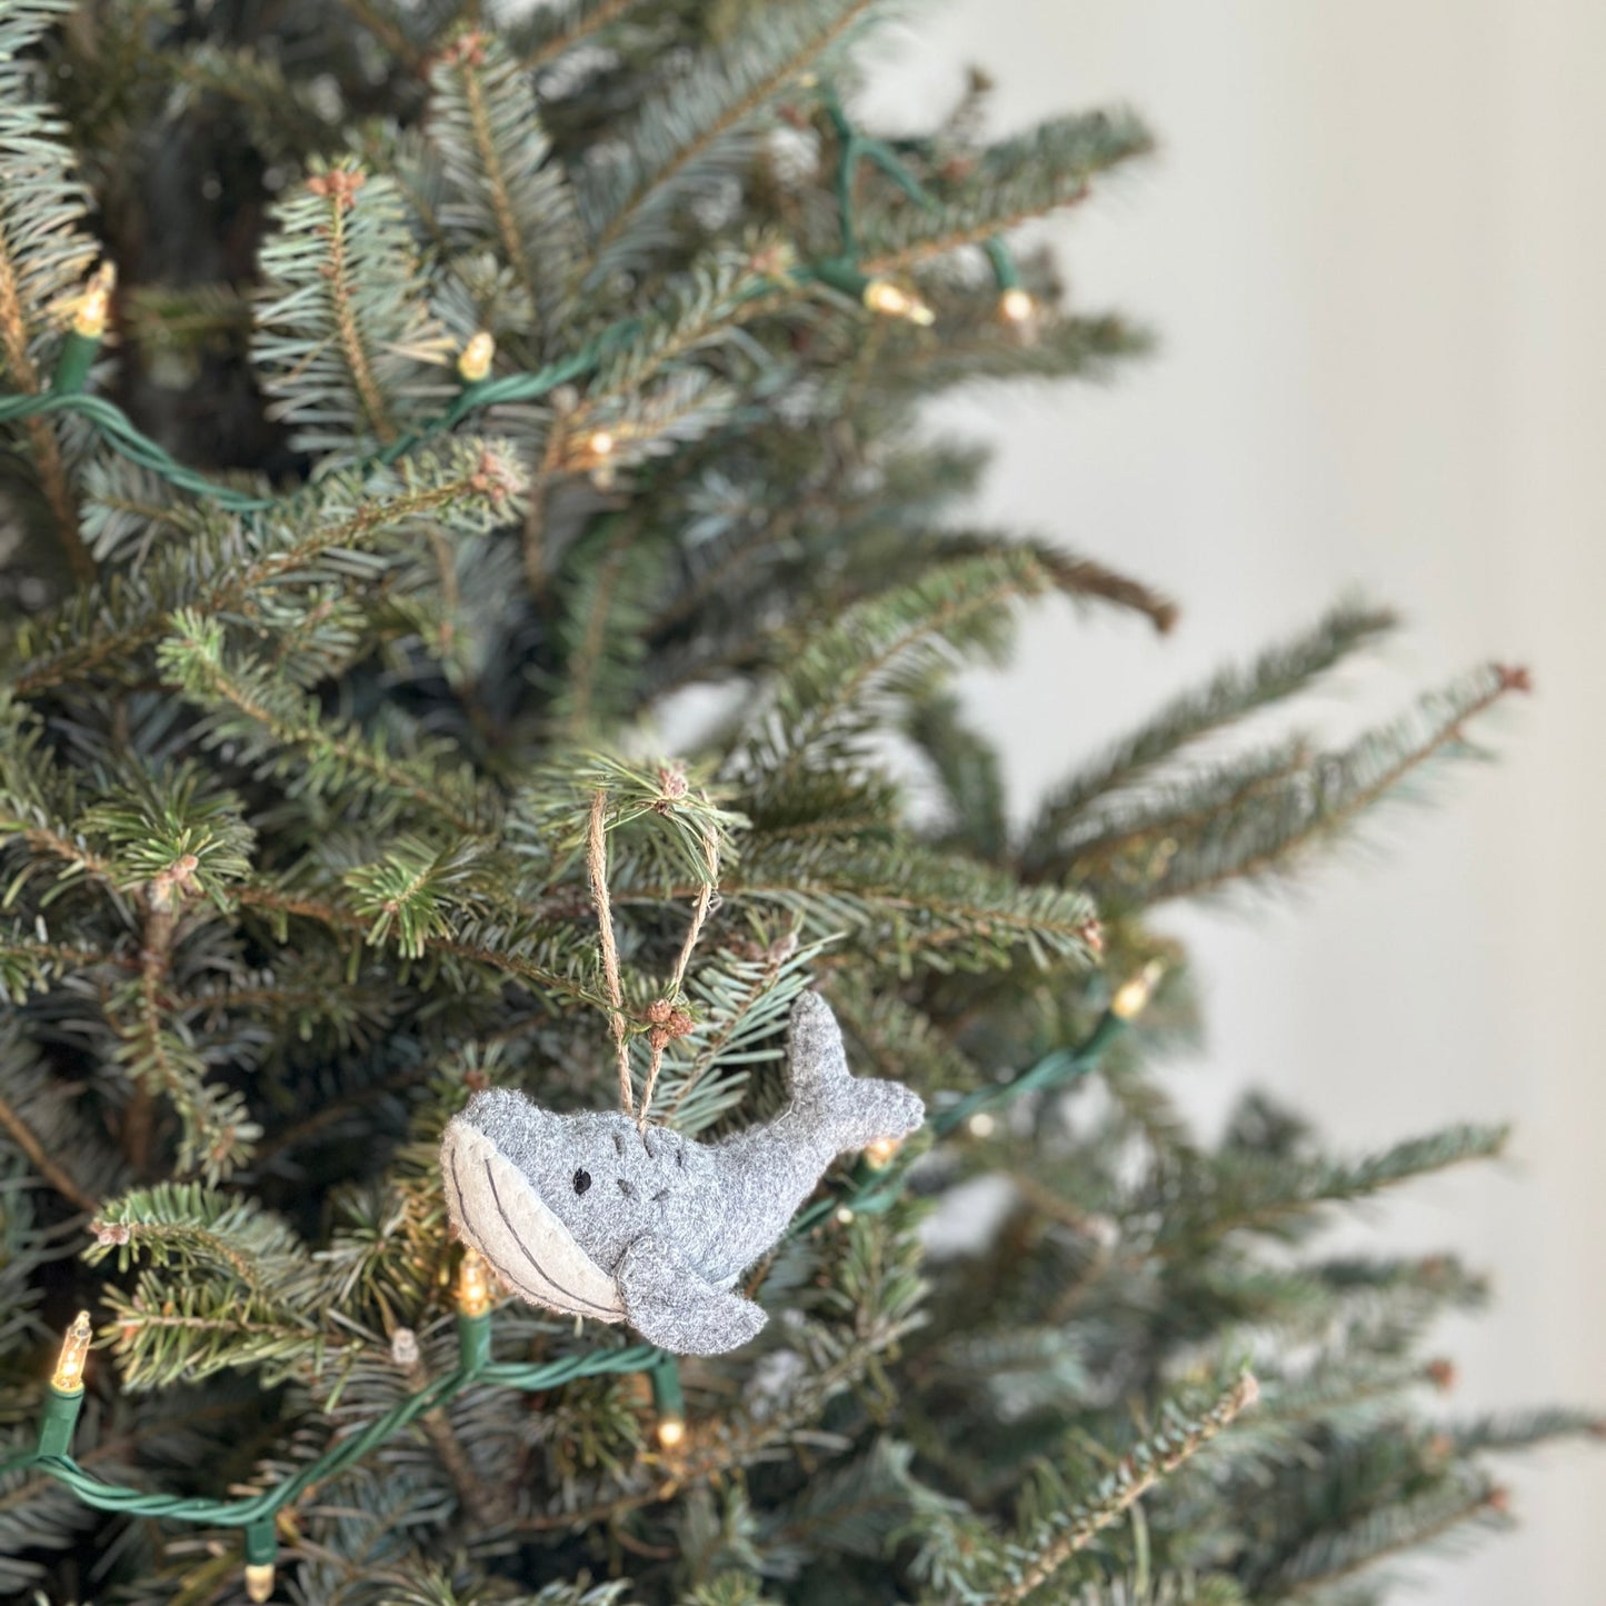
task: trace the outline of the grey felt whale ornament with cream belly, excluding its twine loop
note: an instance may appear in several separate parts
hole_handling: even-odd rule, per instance
[[[848,1073],[830,1005],[792,1009],[790,1107],[718,1143],[618,1111],[554,1115],[509,1089],[477,1094],[442,1140],[458,1233],[532,1304],[628,1322],[681,1355],[753,1338],[764,1312],[732,1288],[830,1161],[925,1119],[898,1082]]]

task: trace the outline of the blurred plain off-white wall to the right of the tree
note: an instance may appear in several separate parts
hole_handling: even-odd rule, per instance
[[[1433,809],[1296,898],[1171,912],[1214,1119],[1246,1084],[1362,1150],[1516,1123],[1500,1168],[1354,1232],[1453,1246],[1497,1304],[1447,1327],[1465,1412],[1606,1407],[1606,8],[952,0],[898,35],[870,106],[930,120],[964,67],[1010,128],[1129,101],[1160,153],[1050,231],[1073,299],[1160,334],[1108,390],[944,406],[997,448],[986,511],[1168,589],[1177,631],[1042,610],[970,683],[1017,809],[1224,658],[1360,586],[1392,649],[1307,710],[1333,734],[1481,658],[1535,695]],[[1423,1601],[1598,1606],[1606,1445],[1513,1476],[1514,1539],[1420,1564]]]

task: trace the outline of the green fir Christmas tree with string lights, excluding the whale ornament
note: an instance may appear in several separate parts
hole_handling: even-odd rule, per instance
[[[1359,1606],[1598,1431],[1447,1413],[1476,1270],[1322,1243],[1503,1132],[1335,1158],[1251,1094],[1206,1143],[1156,1074],[1152,915],[1524,673],[1219,742],[1392,628],[1346,602],[1012,829],[956,670],[1172,605],[967,525],[920,403],[1143,350],[1012,236],[1148,135],[993,138],[980,80],[878,135],[878,13],[0,0],[0,1588]],[[753,1343],[453,1241],[477,1090],[716,1140],[811,989],[928,1119],[747,1270]]]

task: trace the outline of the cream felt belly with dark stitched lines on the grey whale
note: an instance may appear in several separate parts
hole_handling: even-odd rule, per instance
[[[623,1322],[618,1285],[575,1243],[501,1150],[461,1121],[442,1145],[446,1211],[464,1241],[532,1304]]]

